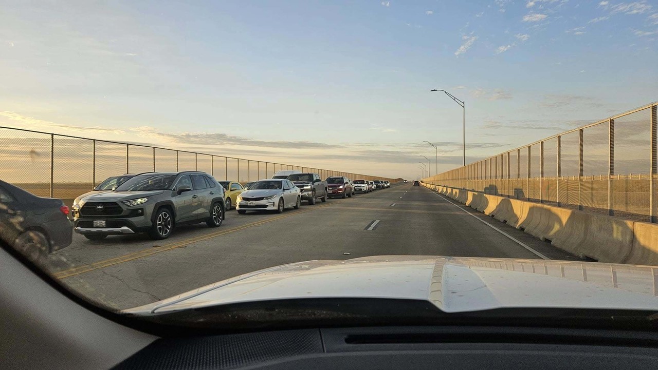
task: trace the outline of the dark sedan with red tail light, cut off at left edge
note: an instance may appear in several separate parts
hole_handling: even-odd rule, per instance
[[[0,239],[38,262],[71,244],[72,233],[61,199],[37,197],[0,181]]]

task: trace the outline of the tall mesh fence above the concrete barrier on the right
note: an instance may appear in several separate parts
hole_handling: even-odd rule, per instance
[[[423,181],[656,222],[657,103]]]

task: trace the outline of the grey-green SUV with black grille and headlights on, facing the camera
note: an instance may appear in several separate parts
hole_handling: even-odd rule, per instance
[[[174,227],[224,220],[224,188],[205,172],[140,173],[114,191],[81,198],[73,206],[73,230],[87,239],[146,232],[166,239]]]

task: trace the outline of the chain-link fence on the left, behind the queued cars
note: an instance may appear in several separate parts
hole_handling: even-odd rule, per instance
[[[270,178],[280,170],[315,172],[322,179],[345,176],[349,179],[401,180],[0,127],[0,179],[40,197],[75,198],[107,177],[122,173],[186,170],[203,171],[218,181],[238,181],[242,184]]]

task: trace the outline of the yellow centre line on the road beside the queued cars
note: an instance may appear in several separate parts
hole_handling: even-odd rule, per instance
[[[347,199],[345,199],[345,200],[347,200]],[[246,225],[234,227],[232,229],[217,231],[215,233],[201,235],[199,237],[193,237],[193,238],[190,238],[190,239],[185,239],[184,241],[179,241],[179,242],[176,242],[176,243],[173,243],[173,244],[167,244],[167,245],[159,246],[157,248],[143,249],[143,250],[139,250],[138,252],[133,252],[133,253],[130,253],[130,254],[124,254],[123,256],[118,256],[118,257],[109,258],[109,259],[103,260],[103,261],[93,262],[91,264],[86,264],[84,266],[73,267],[73,268],[70,268],[70,269],[63,270],[63,271],[58,271],[57,273],[53,273],[53,277],[55,277],[55,279],[66,279],[67,277],[80,275],[81,273],[87,273],[89,271],[93,271],[93,270],[96,270],[96,269],[102,269],[102,268],[113,266],[113,265],[116,265],[116,264],[122,264],[124,262],[137,260],[138,258],[144,258],[144,257],[147,257],[147,256],[152,256],[153,254],[166,252],[167,250],[172,250],[174,248],[178,248],[180,246],[184,246],[184,245],[187,245],[187,244],[192,244],[192,243],[197,243],[197,242],[200,242],[200,241],[205,241],[205,240],[208,240],[208,239],[213,239],[213,238],[219,237],[221,235],[226,235],[228,233],[234,233],[236,231],[248,229],[249,227],[263,225],[263,223],[268,223],[268,222],[272,222],[272,221],[276,221],[276,220],[281,220],[282,218],[295,216],[297,214],[303,214],[305,212],[311,212],[313,210],[317,210],[317,209],[320,209],[320,208],[324,208],[324,207],[328,207],[328,206],[332,206],[334,204],[344,202],[345,200],[334,200],[330,204],[323,204],[322,206],[315,206],[313,208],[308,208],[306,210],[301,210],[301,211],[298,211],[298,212],[292,212],[292,213],[289,213],[289,214],[282,214],[282,215],[276,216],[274,218],[267,218],[265,220],[255,221],[255,222],[252,222],[252,223],[247,223]]]

